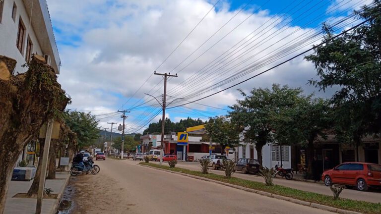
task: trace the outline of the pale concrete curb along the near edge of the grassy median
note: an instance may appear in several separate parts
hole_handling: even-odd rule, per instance
[[[354,211],[341,210],[341,209],[337,209],[337,208],[334,208],[334,207],[329,207],[329,206],[325,206],[325,205],[319,205],[319,204],[316,204],[316,203],[301,201],[301,200],[294,199],[294,198],[288,198],[288,197],[285,197],[285,196],[276,195],[276,194],[272,194],[272,193],[268,193],[268,192],[264,192],[264,191],[260,191],[260,190],[250,189],[250,188],[247,188],[247,187],[242,187],[242,186],[238,186],[238,185],[234,185],[234,184],[229,184],[229,183],[225,183],[225,182],[222,182],[222,181],[216,181],[216,180],[212,180],[212,179],[209,179],[209,178],[199,177],[199,176],[196,176],[196,175],[190,175],[190,174],[186,174],[186,173],[182,173],[182,172],[171,171],[171,170],[168,170],[168,169],[162,169],[162,168],[157,168],[157,167],[148,166],[148,165],[141,165],[141,164],[138,164],[138,165],[144,166],[144,167],[148,167],[148,168],[152,168],[152,169],[161,170],[161,171],[170,172],[170,173],[173,173],[173,174],[180,174],[180,175],[191,177],[191,178],[195,178],[195,179],[198,179],[198,180],[218,183],[218,184],[221,184],[221,185],[224,185],[224,186],[233,187],[235,189],[243,190],[243,191],[246,191],[246,192],[252,192],[252,193],[256,193],[256,194],[262,195],[262,196],[267,196],[267,197],[270,197],[270,198],[284,200],[284,201],[288,201],[288,202],[291,202],[291,203],[295,203],[295,204],[299,204],[299,205],[303,205],[303,206],[307,206],[307,207],[316,208],[316,209],[319,209],[319,210],[324,210],[324,211],[329,211],[329,212],[334,212],[334,213],[339,213],[339,214],[361,214],[361,213],[354,212]]]

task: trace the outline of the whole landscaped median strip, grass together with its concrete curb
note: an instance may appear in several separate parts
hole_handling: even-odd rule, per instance
[[[154,163],[140,162],[139,164],[157,169],[167,170],[169,172],[182,174],[185,176],[211,181],[225,186],[234,187],[248,192],[286,200],[300,205],[318,208],[321,210],[341,213],[341,214],[381,214],[381,203],[371,203],[356,201],[351,199],[333,200],[332,196],[326,196],[318,193],[312,193],[297,190],[289,187],[274,185],[266,186],[264,183],[231,177],[225,178],[222,175],[213,173],[201,174],[200,171],[193,171],[183,168],[170,168],[166,165],[157,165]]]

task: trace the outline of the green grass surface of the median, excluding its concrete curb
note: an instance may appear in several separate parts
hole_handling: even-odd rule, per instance
[[[191,174],[191,175],[195,175],[199,177],[209,178],[212,180],[222,181],[225,183],[243,186],[250,189],[260,190],[260,191],[264,191],[264,192],[268,192],[268,193],[272,193],[276,195],[298,199],[301,201],[312,202],[312,203],[316,203],[320,205],[326,205],[326,206],[330,206],[330,207],[334,207],[334,208],[338,208],[342,210],[356,211],[356,212],[360,212],[364,214],[380,214],[381,213],[381,203],[376,204],[371,202],[356,201],[356,200],[342,199],[342,198],[338,200],[333,200],[333,196],[327,196],[327,195],[322,195],[318,193],[297,190],[297,189],[284,187],[280,185],[266,186],[264,183],[245,180],[242,178],[231,177],[230,179],[227,179],[225,178],[225,176],[217,175],[213,173],[201,174],[201,171],[193,171],[193,170],[178,168],[178,167],[170,168],[169,166],[166,166],[166,165],[157,165],[154,163],[140,162],[139,164],[148,165],[148,166],[161,168],[161,169],[167,169],[170,171],[182,172],[182,173]]]

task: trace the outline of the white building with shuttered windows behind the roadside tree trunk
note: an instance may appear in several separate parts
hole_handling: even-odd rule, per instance
[[[255,144],[241,143],[236,148],[236,159],[250,158],[258,159]],[[262,148],[262,165],[272,168],[275,164],[282,164],[283,168],[291,168],[291,147],[279,145],[264,145]]]

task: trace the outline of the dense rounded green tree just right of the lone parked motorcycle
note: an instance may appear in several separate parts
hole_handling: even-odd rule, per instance
[[[307,147],[309,171],[312,172],[314,142],[318,136],[326,139],[324,130],[332,126],[332,110],[324,99],[312,99],[312,95],[299,99],[293,108],[285,108],[272,116],[271,127],[279,144]]]

